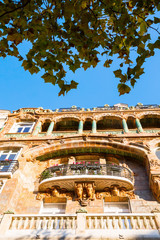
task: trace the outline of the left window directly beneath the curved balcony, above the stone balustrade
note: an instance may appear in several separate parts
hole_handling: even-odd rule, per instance
[[[66,203],[44,203],[41,214],[64,214]]]

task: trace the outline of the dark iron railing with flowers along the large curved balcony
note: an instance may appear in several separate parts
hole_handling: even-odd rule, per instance
[[[107,175],[124,177],[133,182],[133,173],[126,167],[116,164],[68,164],[45,169],[41,173],[40,182],[44,179],[72,175]]]

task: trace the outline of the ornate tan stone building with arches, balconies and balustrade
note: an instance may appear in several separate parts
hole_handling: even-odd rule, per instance
[[[160,108],[0,111],[1,239],[160,239]]]

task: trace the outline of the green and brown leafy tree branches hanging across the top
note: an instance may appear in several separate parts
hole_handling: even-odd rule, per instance
[[[108,68],[116,56],[121,95],[130,92],[146,58],[160,48],[158,11],[159,0],[1,0],[0,56],[17,57],[31,74],[43,69],[42,78],[58,84],[59,95],[77,88],[74,80],[65,81],[66,67],[73,72],[96,67],[105,55]],[[32,44],[25,58],[18,48],[23,41]]]

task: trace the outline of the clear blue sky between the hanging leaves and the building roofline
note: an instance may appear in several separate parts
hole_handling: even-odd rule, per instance
[[[22,49],[25,45],[21,46]],[[115,59],[116,61],[116,59]],[[138,102],[143,104],[160,104],[160,51],[144,64],[145,74],[141,76],[131,93],[119,96],[118,79],[111,68],[104,68],[99,63],[96,68],[87,71],[78,70],[68,73],[68,80],[79,82],[77,90],[71,90],[66,96],[58,97],[59,88],[44,83],[42,73],[31,75],[21,67],[14,57],[0,58],[0,109],[17,110],[22,107],[43,107],[56,109],[60,107],[96,107],[104,104]]]

